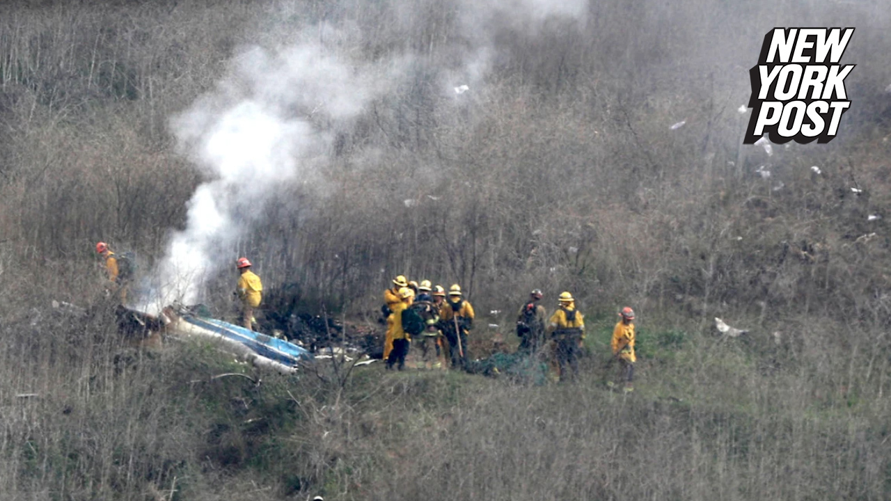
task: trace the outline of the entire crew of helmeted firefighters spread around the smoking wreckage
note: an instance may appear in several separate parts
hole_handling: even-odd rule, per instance
[[[127,300],[127,281],[119,274],[118,259],[105,242],[96,244],[96,251],[105,261],[108,274],[107,290],[116,292],[121,302]],[[250,270],[247,258],[235,261],[239,280],[234,294],[241,303],[241,326],[253,330],[257,320],[254,309],[263,300],[263,283]],[[584,315],[576,310],[576,300],[570,292],[560,293],[558,308],[550,318],[542,306],[544,297],[539,289],[529,294],[529,300],[519,309],[517,335],[519,351],[529,357],[543,357],[552,349],[560,380],[574,379],[578,373],[578,358],[584,346]],[[405,368],[405,357],[411,343],[416,341],[421,357],[428,368],[444,364],[455,368],[468,363],[468,335],[473,329],[474,311],[463,297],[461,286],[454,283],[448,292],[442,285],[429,280],[409,281],[405,275],[393,279],[393,286],[384,291],[385,305],[381,308],[387,318],[383,359],[387,369]],[[629,307],[619,312],[621,320],[613,330],[612,357],[618,361],[625,380],[625,391],[634,390],[634,310]],[[547,341],[552,342],[547,342]],[[612,386],[614,383],[609,382]]]

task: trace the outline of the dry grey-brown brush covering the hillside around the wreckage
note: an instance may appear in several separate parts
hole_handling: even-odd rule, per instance
[[[495,4],[0,5],[4,499],[891,497],[887,5],[591,1],[523,19]],[[856,27],[857,68],[838,138],[768,157],[740,144],[736,109],[776,26]],[[326,129],[307,182],[240,234],[231,253],[257,263],[270,308],[373,324],[405,274],[462,283],[490,341],[533,287],[549,307],[569,290],[588,319],[579,382],[371,365],[339,384],[325,364],[254,373],[115,332],[95,242],[151,270],[211,177],[170,119],[246,47],[307,33],[386,66],[393,91]],[[233,283],[208,278],[215,316]],[[630,396],[604,384],[624,305]],[[720,337],[715,316],[750,333]],[[263,381],[211,379],[228,373]]]

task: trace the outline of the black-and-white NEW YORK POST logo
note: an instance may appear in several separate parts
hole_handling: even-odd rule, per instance
[[[851,106],[845,78],[854,64],[838,64],[853,28],[774,28],[764,35],[758,64],[748,70],[752,117],[743,144],[764,133],[775,144],[829,143]]]

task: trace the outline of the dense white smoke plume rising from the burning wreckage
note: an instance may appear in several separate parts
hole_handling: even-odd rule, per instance
[[[380,65],[378,67],[380,69]],[[200,300],[205,281],[233,268],[238,239],[282,186],[323,168],[331,138],[385,91],[374,68],[319,42],[242,53],[212,92],[171,121],[182,152],[208,176],[188,202],[140,308]]]

